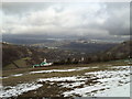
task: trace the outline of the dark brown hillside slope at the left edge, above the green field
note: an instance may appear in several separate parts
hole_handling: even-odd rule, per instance
[[[31,54],[32,52],[28,47],[2,43],[2,66],[4,68],[14,61],[29,57]]]

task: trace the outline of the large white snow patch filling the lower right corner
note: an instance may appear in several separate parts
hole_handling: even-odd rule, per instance
[[[118,70],[86,73],[85,75],[87,76],[90,75],[98,78],[98,82],[66,91],[64,92],[65,97],[73,95],[82,97],[130,97],[130,66],[119,66],[116,68],[118,68]]]

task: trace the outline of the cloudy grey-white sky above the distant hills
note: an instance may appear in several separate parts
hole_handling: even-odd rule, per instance
[[[4,2],[2,35],[128,40],[129,2]]]

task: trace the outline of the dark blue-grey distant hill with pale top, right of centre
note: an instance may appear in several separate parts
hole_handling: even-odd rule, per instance
[[[72,42],[69,44],[61,46],[63,50],[79,51],[86,53],[97,53],[109,50],[118,43],[96,43],[96,42]]]

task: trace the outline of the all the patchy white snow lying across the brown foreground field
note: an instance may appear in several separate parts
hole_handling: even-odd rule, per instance
[[[92,67],[98,68],[98,67]],[[70,88],[70,90],[63,91],[64,97],[130,97],[130,66],[112,66],[114,70],[98,70],[84,73],[84,75],[72,77],[53,77],[53,78],[38,78],[34,82],[19,84],[16,86],[1,87],[0,97],[19,96],[30,90],[36,90],[42,87],[42,84],[48,82],[57,84],[62,88]],[[29,74],[53,73],[53,72],[77,72],[89,69],[89,67],[77,67],[73,69],[52,69],[30,72]],[[23,74],[12,75],[23,76]]]

